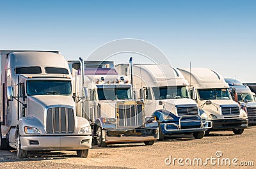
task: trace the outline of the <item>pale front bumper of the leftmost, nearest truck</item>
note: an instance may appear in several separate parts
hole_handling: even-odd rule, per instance
[[[83,150],[92,147],[91,135],[20,136],[21,149],[26,151]]]

